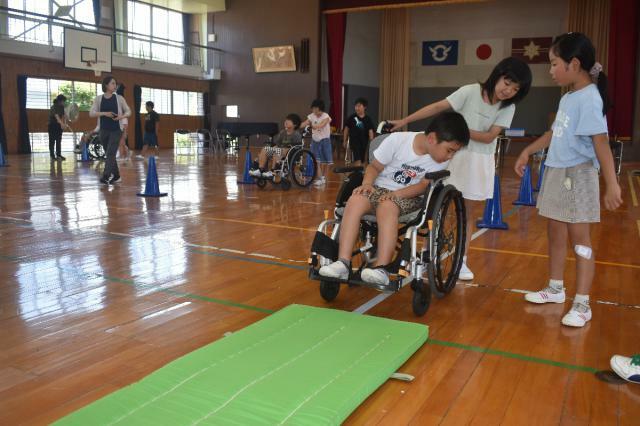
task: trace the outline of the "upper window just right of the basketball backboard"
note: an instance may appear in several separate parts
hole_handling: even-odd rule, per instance
[[[172,64],[184,63],[182,13],[139,1],[127,1],[129,56]]]

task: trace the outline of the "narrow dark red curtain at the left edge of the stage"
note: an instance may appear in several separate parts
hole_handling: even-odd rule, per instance
[[[329,69],[329,96],[331,124],[342,129],[342,59],[344,34],[347,28],[346,13],[332,13],[327,17],[327,62]]]

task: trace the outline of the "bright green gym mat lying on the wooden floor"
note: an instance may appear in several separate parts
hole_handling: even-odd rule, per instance
[[[422,324],[290,305],[56,424],[339,424],[427,335]]]

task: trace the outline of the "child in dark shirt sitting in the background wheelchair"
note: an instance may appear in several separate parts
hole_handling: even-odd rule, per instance
[[[284,119],[284,129],[275,135],[271,141],[271,146],[265,146],[258,155],[257,164],[249,170],[249,175],[253,177],[273,178],[272,169],[278,161],[286,157],[289,149],[294,145],[300,145],[302,135],[298,131],[300,127],[300,116],[289,114]],[[267,168],[268,166],[268,168]]]

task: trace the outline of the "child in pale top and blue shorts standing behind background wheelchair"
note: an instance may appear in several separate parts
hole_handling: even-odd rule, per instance
[[[327,182],[325,177],[329,166],[333,164],[333,154],[331,149],[331,117],[324,112],[324,101],[316,99],[311,103],[311,114],[300,125],[304,128],[311,125],[311,152],[318,160],[318,179],[314,185],[320,186]]]

